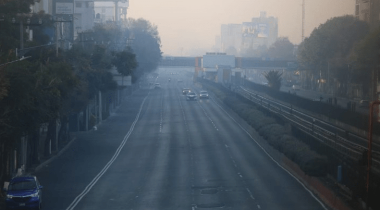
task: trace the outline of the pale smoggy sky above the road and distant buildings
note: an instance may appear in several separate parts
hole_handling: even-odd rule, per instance
[[[355,8],[355,0],[305,1],[306,37],[328,19],[353,14]],[[301,42],[302,0],[129,0],[128,16],[157,25],[164,54],[185,56],[197,48],[210,51],[221,24],[250,22],[260,11],[278,18],[279,36]]]

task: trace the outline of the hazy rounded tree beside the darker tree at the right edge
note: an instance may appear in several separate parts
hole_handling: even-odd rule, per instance
[[[334,17],[315,28],[299,45],[298,64],[302,70],[311,71],[315,78],[336,79],[341,87],[347,86],[349,54],[368,32],[368,24],[353,16]]]

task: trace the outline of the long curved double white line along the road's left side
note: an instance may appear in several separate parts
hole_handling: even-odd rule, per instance
[[[150,92],[149,92],[150,93]],[[129,129],[128,133],[124,136],[124,139],[123,141],[120,143],[120,146],[117,148],[115,154],[112,156],[111,160],[104,166],[103,169],[101,169],[101,171],[95,176],[95,178],[90,182],[89,185],[86,186],[86,188],[82,191],[81,194],[79,194],[75,199],[74,201],[69,205],[69,207],[67,207],[66,210],[73,210],[77,205],[78,203],[82,200],[82,198],[90,192],[91,188],[93,188],[93,186],[96,184],[96,182],[99,180],[99,178],[108,170],[108,168],[112,165],[112,163],[116,160],[116,158],[119,156],[120,154],[120,151],[123,149],[125,143],[127,142],[129,136],[131,135],[133,129],[135,128],[135,125],[137,123],[137,121],[139,120],[139,117],[140,117],[140,114],[141,114],[141,111],[142,111],[142,106],[144,105],[145,103],[145,100],[146,98],[149,96],[149,93],[148,95],[144,98],[144,100],[142,101],[142,104],[140,106],[140,110],[139,110],[139,113],[137,114],[136,116],[136,119],[135,121],[132,123],[132,126],[131,128]]]

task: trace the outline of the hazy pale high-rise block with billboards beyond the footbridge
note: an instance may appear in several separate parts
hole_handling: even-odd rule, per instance
[[[248,48],[257,49],[260,45],[269,48],[277,38],[278,19],[260,12],[260,17],[252,18],[251,22],[222,25],[221,51],[241,55]]]

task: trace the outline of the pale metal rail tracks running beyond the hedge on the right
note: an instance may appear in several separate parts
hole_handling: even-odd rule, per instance
[[[292,106],[289,107],[253,93],[242,86],[236,88],[235,91],[263,108],[281,115],[291,125],[296,126],[345,156],[358,160],[363,157],[363,152],[367,150],[368,140],[366,138],[295,110]],[[373,151],[372,167],[380,173],[380,145],[374,145]]]

